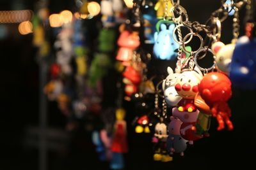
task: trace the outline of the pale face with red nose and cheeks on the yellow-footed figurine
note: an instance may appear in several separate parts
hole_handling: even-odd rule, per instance
[[[179,74],[175,89],[180,97],[194,99],[198,92],[198,83],[202,80],[202,74],[195,71],[184,71]]]

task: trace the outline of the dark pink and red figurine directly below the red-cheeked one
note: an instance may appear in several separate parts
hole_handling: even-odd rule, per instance
[[[202,135],[196,134],[196,120],[198,118],[199,111],[179,111],[178,108],[172,109],[172,115],[175,118],[179,118],[182,122],[180,126],[180,135],[182,138],[189,141],[189,145],[193,145],[193,141],[202,138]]]

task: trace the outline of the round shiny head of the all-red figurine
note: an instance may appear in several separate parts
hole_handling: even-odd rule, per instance
[[[218,72],[206,74],[198,85],[198,91],[207,104],[228,101],[232,96],[230,80]]]

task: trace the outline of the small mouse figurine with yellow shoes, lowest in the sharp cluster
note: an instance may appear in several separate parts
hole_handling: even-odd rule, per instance
[[[156,143],[156,152],[154,154],[154,160],[161,160],[162,162],[172,161],[172,157],[167,152],[166,141],[168,138],[167,125],[164,123],[157,123],[155,127],[153,143]]]

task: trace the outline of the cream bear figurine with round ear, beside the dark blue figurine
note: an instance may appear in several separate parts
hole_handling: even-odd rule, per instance
[[[235,43],[225,45],[221,41],[216,41],[216,43],[212,44],[212,50],[216,54],[216,64],[218,69],[225,73],[228,73],[229,71],[234,48]]]

